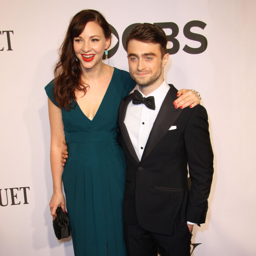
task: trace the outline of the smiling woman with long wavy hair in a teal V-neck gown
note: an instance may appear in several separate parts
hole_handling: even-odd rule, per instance
[[[126,255],[125,162],[117,143],[117,112],[121,98],[136,83],[128,72],[102,63],[110,36],[98,11],[76,14],[61,46],[55,79],[45,87],[53,176],[49,205],[53,217],[59,205],[65,209],[63,181],[76,256]],[[187,98],[198,101],[194,95]],[[65,169],[60,161],[64,139],[69,152]]]

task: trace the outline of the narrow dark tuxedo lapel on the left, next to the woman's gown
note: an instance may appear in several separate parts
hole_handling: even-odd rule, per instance
[[[119,126],[120,126],[120,129],[121,129],[121,134],[123,136],[124,143],[125,143],[126,147],[128,148],[132,157],[136,160],[136,162],[139,163],[139,158],[138,158],[138,156],[136,154],[136,151],[135,151],[135,149],[132,145],[132,141],[130,139],[128,130],[126,128],[126,125],[124,124],[124,119],[125,119],[125,116],[126,116],[127,106],[131,102],[131,100],[132,100],[132,94],[130,94],[125,101],[122,100],[121,103],[120,103],[120,107],[119,107]]]

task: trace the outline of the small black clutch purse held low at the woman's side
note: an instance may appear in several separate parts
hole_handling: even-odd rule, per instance
[[[59,206],[56,210],[57,217],[53,221],[53,229],[56,237],[60,240],[61,238],[67,238],[70,236],[71,229],[68,218],[68,213],[64,212]]]

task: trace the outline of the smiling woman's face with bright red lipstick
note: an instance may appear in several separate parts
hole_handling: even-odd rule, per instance
[[[88,22],[79,37],[74,38],[75,55],[83,72],[102,65],[103,53],[109,45],[110,38],[105,38],[102,27],[94,21]]]

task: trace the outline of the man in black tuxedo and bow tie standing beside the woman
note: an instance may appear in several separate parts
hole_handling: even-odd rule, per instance
[[[120,103],[126,158],[124,237],[129,256],[190,255],[194,224],[205,222],[213,175],[207,112],[173,108],[177,89],[164,79],[167,38],[141,24],[126,39],[138,90]],[[191,188],[188,188],[188,169]]]

